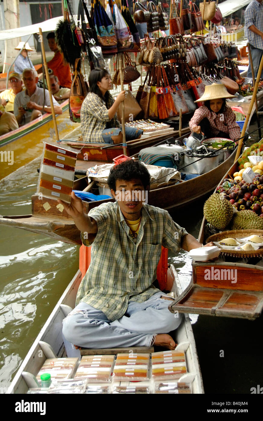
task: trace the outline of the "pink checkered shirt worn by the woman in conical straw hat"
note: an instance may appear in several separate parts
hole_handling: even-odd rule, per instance
[[[219,131],[229,133],[229,137],[232,140],[239,139],[240,127],[236,122],[236,116],[234,111],[226,106],[224,113],[219,112],[216,114],[210,111],[205,105],[195,110],[195,114],[189,121],[189,127],[192,130],[194,126],[198,126],[203,118],[207,118],[211,126],[211,137],[218,135]]]

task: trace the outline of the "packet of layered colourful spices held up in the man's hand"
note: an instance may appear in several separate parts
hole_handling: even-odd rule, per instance
[[[50,199],[71,202],[71,192],[79,151],[45,143],[42,155],[37,193]]]

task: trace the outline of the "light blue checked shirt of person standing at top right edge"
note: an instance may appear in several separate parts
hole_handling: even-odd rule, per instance
[[[260,35],[250,31],[251,25],[255,25],[263,32],[263,5],[256,0],[253,0],[245,10],[245,37],[253,47],[263,50],[263,40]]]

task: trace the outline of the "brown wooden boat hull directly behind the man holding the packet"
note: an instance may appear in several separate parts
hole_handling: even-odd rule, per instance
[[[148,204],[175,213],[191,205],[191,203],[196,203],[197,200],[203,199],[218,186],[227,168],[234,162],[235,153],[234,151],[226,161],[208,173],[175,185],[150,190]],[[87,185],[87,177],[74,181],[74,189],[76,190],[83,190]],[[83,202],[85,212],[88,213],[90,209],[108,201],[113,201],[113,199],[89,203]],[[81,244],[79,230],[76,229],[73,220],[66,211],[63,210],[60,213],[57,210],[56,205],[58,203],[56,200],[45,198],[45,202],[50,205],[48,211],[43,207],[43,200],[39,200],[37,195],[33,195],[32,215],[4,216],[0,218],[0,224],[39,232],[68,243]],[[51,223],[51,221],[58,221],[58,214],[60,221]],[[61,218],[64,219],[64,222],[61,222]]]

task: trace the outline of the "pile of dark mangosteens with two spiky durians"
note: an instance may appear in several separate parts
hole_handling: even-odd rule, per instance
[[[263,229],[263,176],[252,183],[224,179],[205,202],[204,216],[219,230]]]

